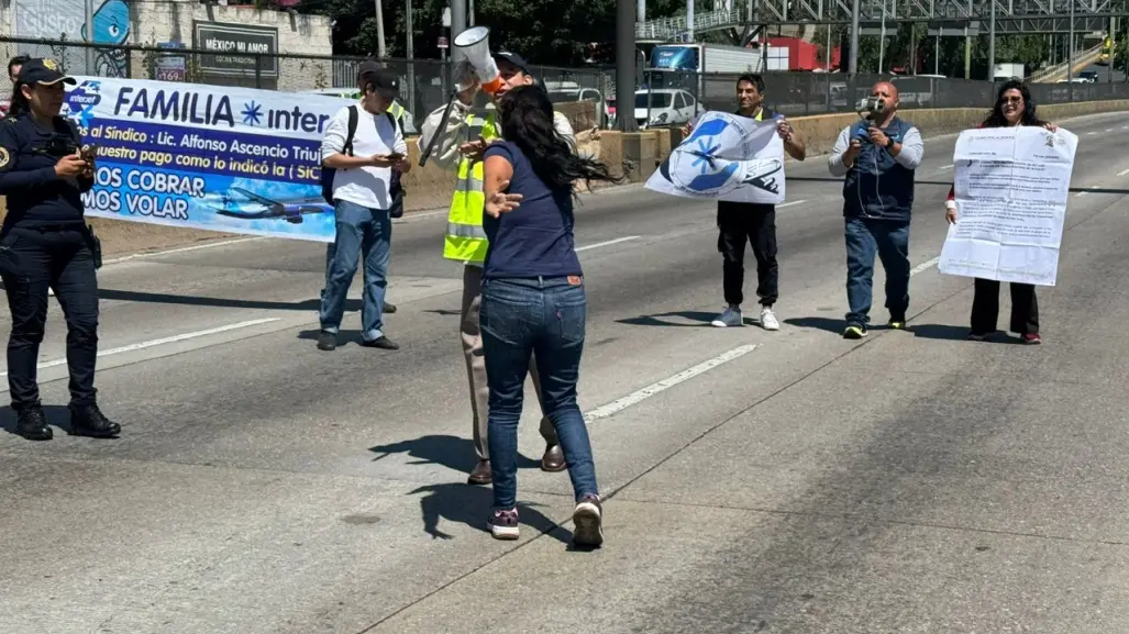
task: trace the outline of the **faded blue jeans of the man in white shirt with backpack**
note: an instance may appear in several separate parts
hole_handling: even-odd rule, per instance
[[[368,209],[348,201],[336,201],[336,236],[326,252],[325,291],[320,315],[322,331],[336,333],[345,310],[345,299],[357,261],[365,262],[361,293],[361,336],[374,341],[384,336],[384,294],[388,287],[388,258],[392,253],[392,218],[387,210]]]

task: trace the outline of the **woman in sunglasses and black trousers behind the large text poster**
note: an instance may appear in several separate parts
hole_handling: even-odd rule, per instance
[[[1031,91],[1017,79],[1013,79],[999,89],[996,105],[991,114],[980,124],[980,127],[1009,127],[1013,125],[1038,125],[1051,132],[1058,130],[1053,123],[1039,121],[1035,116],[1035,103]],[[956,223],[956,190],[948,190],[945,201],[945,219],[949,224]],[[975,279],[975,291],[972,298],[972,329],[969,338],[984,341],[996,333],[999,317],[999,282],[996,280]],[[1039,303],[1035,299],[1033,284],[1012,282],[1012,332],[1018,333],[1023,343],[1039,344]]]

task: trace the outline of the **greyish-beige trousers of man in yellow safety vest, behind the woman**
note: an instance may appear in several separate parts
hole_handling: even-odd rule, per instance
[[[490,444],[487,441],[487,424],[490,412],[490,387],[487,385],[487,362],[482,353],[482,332],[479,329],[481,308],[482,268],[464,266],[460,335],[463,340],[463,355],[466,356],[466,378],[471,386],[474,451],[478,452],[480,460],[489,460]],[[537,391],[537,403],[541,405],[541,437],[545,439],[546,444],[558,444],[557,428],[544,414],[545,406],[541,398],[541,377],[537,376],[537,364],[533,355],[530,356],[530,375],[533,376],[533,388]]]

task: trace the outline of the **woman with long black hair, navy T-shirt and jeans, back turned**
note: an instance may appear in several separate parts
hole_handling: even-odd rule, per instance
[[[490,247],[482,282],[481,332],[490,386],[489,447],[495,504],[488,523],[516,539],[517,423],[535,353],[545,415],[560,437],[576,496],[574,540],[603,543],[603,507],[588,430],[576,403],[584,351],[584,272],[572,244],[574,183],[621,182],[580,158],[557,132],[549,95],[520,86],[498,102],[504,141],[483,158]]]

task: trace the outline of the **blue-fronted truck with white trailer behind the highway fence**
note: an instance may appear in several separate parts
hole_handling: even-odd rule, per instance
[[[788,47],[728,46],[725,44],[659,44],[651,49],[645,83],[650,88],[682,89],[704,104],[732,103],[734,87],[710,74],[788,70]]]

